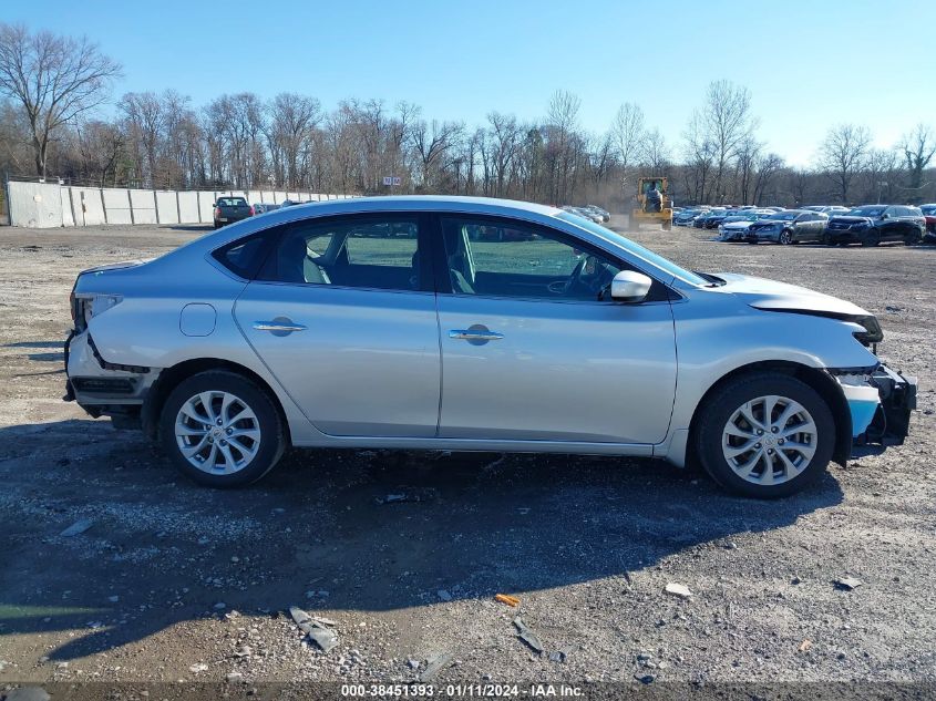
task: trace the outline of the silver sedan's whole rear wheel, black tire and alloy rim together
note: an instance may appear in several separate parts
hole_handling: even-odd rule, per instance
[[[160,441],[175,466],[195,482],[237,487],[272,470],[286,447],[286,432],[267,392],[243,375],[212,370],[169,393]]]

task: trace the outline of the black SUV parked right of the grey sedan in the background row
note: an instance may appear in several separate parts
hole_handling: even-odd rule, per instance
[[[825,229],[827,244],[877,246],[882,241],[923,240],[926,218],[918,207],[907,205],[864,205],[847,215],[832,217]]]

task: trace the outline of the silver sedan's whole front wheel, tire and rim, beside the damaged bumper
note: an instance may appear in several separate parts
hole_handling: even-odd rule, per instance
[[[695,447],[712,478],[755,498],[795,494],[825,470],[835,445],[829,405],[786,374],[736,378],[700,409]]]

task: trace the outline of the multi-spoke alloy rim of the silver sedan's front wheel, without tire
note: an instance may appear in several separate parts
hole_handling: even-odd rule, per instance
[[[742,480],[757,485],[789,482],[810,464],[819,430],[805,406],[775,394],[739,406],[722,432],[722,454]]]

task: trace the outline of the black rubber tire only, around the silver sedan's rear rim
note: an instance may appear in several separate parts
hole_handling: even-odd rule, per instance
[[[233,394],[249,406],[257,419],[260,432],[259,449],[253,460],[237,472],[209,474],[189,463],[182,454],[175,435],[176,416],[183,404],[200,392]],[[267,391],[236,372],[227,370],[199,372],[179,382],[163,404],[163,412],[160,415],[160,443],[176,468],[198,484],[219,488],[250,484],[272,470],[287,447],[284,422],[274,402],[275,400]]]

